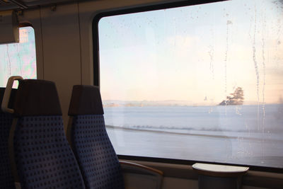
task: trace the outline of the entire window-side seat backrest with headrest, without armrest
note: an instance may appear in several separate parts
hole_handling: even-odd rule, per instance
[[[117,155],[105,129],[99,89],[74,86],[69,115],[67,136],[86,188],[125,188]]]

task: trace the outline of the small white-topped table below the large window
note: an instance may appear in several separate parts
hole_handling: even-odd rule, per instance
[[[239,189],[242,176],[248,167],[225,166],[216,164],[193,164],[192,168],[199,174],[199,188]]]

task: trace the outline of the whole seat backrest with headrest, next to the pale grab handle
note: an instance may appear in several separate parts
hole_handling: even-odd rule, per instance
[[[21,188],[85,188],[64,134],[55,84],[19,81],[14,116],[13,153]]]

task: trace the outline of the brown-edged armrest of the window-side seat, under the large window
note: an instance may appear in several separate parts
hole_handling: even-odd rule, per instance
[[[134,164],[129,161],[119,161],[122,171],[127,171],[131,173],[141,173],[153,176],[163,176],[163,172],[156,168],[151,168],[149,166],[143,166],[141,164]]]

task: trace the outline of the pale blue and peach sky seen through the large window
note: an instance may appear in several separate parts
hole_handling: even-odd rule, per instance
[[[103,100],[282,103],[283,4],[233,0],[98,23]]]

